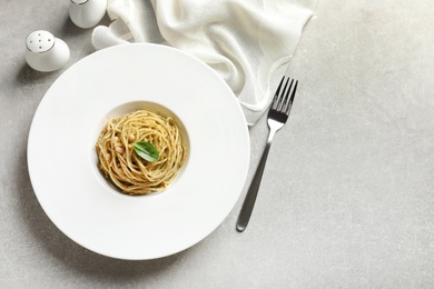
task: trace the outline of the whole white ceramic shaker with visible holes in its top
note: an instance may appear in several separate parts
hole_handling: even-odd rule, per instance
[[[37,30],[26,39],[26,61],[34,70],[50,72],[62,68],[70,51],[63,40],[48,31]]]

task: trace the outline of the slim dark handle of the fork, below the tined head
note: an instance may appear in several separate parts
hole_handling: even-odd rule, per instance
[[[251,180],[250,187],[248,188],[246,199],[244,200],[241,211],[239,212],[237,220],[237,231],[243,232],[248,221],[250,220],[253,208],[255,207],[256,197],[258,196],[260,180],[263,179],[265,163],[267,162],[268,151],[272,147],[272,141],[276,131],[270,130],[268,133],[267,144],[265,146],[263,156],[260,157],[259,165],[256,169],[255,176]]]

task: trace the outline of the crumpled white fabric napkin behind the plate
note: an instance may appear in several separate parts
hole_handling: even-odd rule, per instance
[[[317,0],[108,0],[112,22],[95,48],[152,42],[178,48],[216,70],[254,124],[272,101]]]

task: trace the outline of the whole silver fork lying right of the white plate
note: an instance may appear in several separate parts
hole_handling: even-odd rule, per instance
[[[241,211],[238,216],[237,231],[239,232],[243,232],[246,229],[248,221],[250,220],[273,138],[276,132],[284,127],[286,120],[288,119],[295,92],[297,91],[297,84],[298,80],[292,79],[289,82],[288,77],[283,77],[279,86],[277,87],[276,93],[274,94],[273,103],[268,110],[267,117],[269,127],[267,144],[265,146],[263,157],[260,158],[258,168],[256,169],[250,187],[248,188],[246,199],[244,200]]]

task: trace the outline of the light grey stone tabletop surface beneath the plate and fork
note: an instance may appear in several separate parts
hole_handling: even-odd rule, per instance
[[[290,62],[300,81],[268,158],[249,227],[241,198],[193,248],[126,261],[67,238],[27,168],[34,111],[69,66],[92,53],[68,1],[3,0],[0,10],[1,288],[434,288],[434,3],[319,1]],[[107,21],[103,20],[103,21]],[[46,29],[71,48],[40,73],[24,39]],[[248,180],[264,148],[250,128]]]

